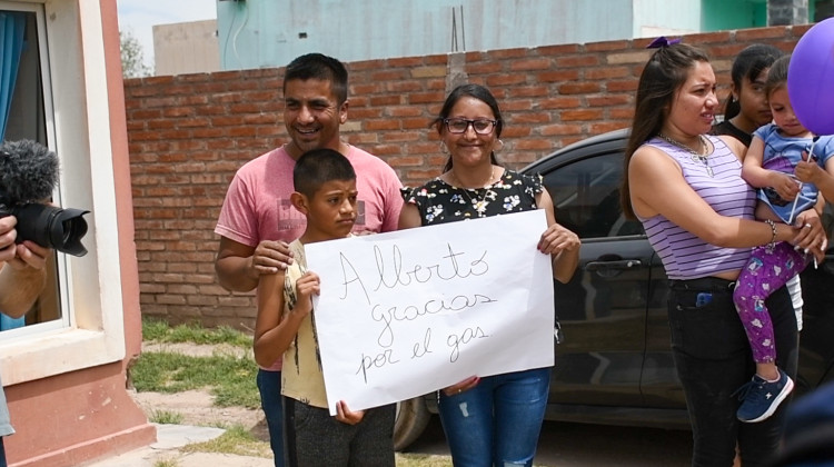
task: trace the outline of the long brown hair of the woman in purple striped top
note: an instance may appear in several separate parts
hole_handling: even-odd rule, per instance
[[[687,43],[675,43],[654,52],[643,68],[619,190],[623,213],[628,219],[635,219],[628,187],[628,162],[637,148],[661,132],[675,93],[686,82],[689,70],[698,61],[709,62],[706,52]]]

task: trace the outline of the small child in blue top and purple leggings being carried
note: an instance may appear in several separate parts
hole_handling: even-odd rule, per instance
[[[794,223],[800,212],[824,202],[813,183],[801,183],[793,176],[803,160],[803,152],[807,153],[811,149],[813,152],[806,157],[823,167],[828,166],[831,173],[834,173],[832,138],[815,137],[794,115],[787,95],[788,60],[790,56],[782,57],[771,67],[765,93],[774,122],[754,132],[742,168],[742,177],[758,188],[756,219],[771,225],[774,238],[774,222]],[[832,179],[831,175],[823,170],[821,172],[813,176],[821,180],[823,177]],[[834,195],[834,189],[831,191]],[[803,227],[811,228],[811,225]],[[776,346],[765,300],[802,272],[814,255],[822,259],[823,249],[796,251],[788,242],[756,247],[738,276],[733,299],[756,364],[753,379],[739,389],[742,405],[737,417],[742,421],[766,419],[793,389],[793,380],[775,362]]]

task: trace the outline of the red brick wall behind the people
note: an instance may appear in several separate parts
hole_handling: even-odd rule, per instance
[[[772,27],[685,37],[713,58],[721,96],[735,54],[752,42],[786,51],[808,29]],[[487,86],[506,120],[499,159],[520,168],[555,149],[629,125],[649,40],[547,46],[348,63],[342,136],[386,160],[406,185],[439,173],[445,157],[427,127],[454,85]],[[252,294],[221,288],[214,234],[238,167],[287,141],[284,69],[125,82],[136,245],[145,316],[252,328]]]

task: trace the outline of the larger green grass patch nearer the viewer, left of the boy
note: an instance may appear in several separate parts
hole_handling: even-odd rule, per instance
[[[130,370],[137,391],[182,393],[210,388],[215,405],[259,408],[255,382],[258,366],[251,357],[191,357],[176,352],[145,352]]]

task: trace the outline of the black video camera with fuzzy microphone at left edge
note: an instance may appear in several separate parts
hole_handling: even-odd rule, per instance
[[[17,242],[31,240],[73,256],[87,255],[83,209],[61,209],[43,203],[58,182],[58,157],[42,145],[4,141],[0,146],[0,218],[14,216]]]

